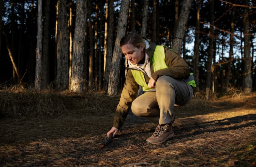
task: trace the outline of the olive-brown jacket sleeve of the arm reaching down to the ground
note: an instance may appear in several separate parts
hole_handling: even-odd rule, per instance
[[[120,129],[123,126],[124,120],[128,115],[132,102],[137,95],[138,89],[139,85],[134,80],[131,69],[129,69],[126,75],[119,104],[116,107],[113,127]]]

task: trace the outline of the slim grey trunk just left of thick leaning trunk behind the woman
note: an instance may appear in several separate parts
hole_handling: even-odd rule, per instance
[[[108,0],[107,55],[106,55],[105,75],[104,75],[104,89],[106,90],[106,92],[108,90],[108,82],[109,82],[108,78],[109,78],[109,72],[110,72],[111,60],[112,60],[113,24],[114,24],[114,0]]]

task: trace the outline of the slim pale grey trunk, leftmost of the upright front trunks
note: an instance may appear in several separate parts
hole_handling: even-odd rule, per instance
[[[42,43],[43,43],[43,21],[42,21],[42,0],[38,0],[37,13],[37,42],[36,42],[36,79],[35,88],[42,90]]]

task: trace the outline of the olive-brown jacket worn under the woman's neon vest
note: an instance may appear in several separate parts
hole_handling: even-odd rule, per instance
[[[150,57],[150,70],[151,70],[151,77],[157,81],[157,79],[163,75],[170,76],[175,79],[186,79],[190,75],[190,68],[187,62],[176,52],[173,50],[165,47],[165,63],[168,65],[169,68],[161,69],[154,72],[152,57],[154,55],[154,51],[156,49],[156,44],[153,42],[149,42],[150,46],[146,49],[146,53]],[[157,56],[157,55],[155,55]],[[133,78],[132,71],[135,69],[128,69],[126,80],[124,83],[124,88],[120,97],[119,104],[117,105],[113,127],[120,129],[123,124],[124,120],[128,115],[128,111],[132,106],[132,102],[135,99],[139,85],[136,83],[135,79]],[[150,78],[144,73],[144,77],[146,82],[150,80]]]

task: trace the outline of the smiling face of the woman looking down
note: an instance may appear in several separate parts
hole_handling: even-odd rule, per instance
[[[121,49],[125,58],[133,65],[138,64],[145,57],[144,46],[142,44],[140,44],[140,48],[136,48],[132,44],[125,44]]]

